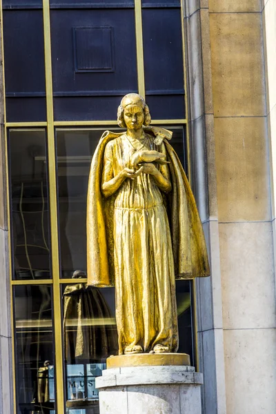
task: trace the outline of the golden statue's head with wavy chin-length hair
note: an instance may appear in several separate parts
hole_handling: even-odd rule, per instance
[[[137,93],[128,93],[119,105],[117,121],[121,128],[139,129],[150,125],[150,110],[144,98]]]

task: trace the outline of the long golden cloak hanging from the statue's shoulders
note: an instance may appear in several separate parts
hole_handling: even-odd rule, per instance
[[[154,135],[154,128],[144,128]],[[114,286],[113,210],[115,195],[101,194],[101,172],[106,144],[124,132],[106,131],[92,158],[87,198],[87,274],[88,285]],[[210,275],[206,242],[190,184],[175,150],[164,139],[170,168],[172,191],[164,195],[172,238],[176,279]]]

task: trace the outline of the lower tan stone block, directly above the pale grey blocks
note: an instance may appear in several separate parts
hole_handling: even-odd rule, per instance
[[[270,219],[266,119],[215,119],[219,221]]]

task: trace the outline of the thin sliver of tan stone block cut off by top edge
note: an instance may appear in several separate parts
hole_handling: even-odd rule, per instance
[[[209,0],[210,12],[260,12],[262,0]]]

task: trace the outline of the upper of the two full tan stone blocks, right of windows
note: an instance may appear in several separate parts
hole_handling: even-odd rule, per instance
[[[260,13],[210,14],[214,114],[265,115]]]

